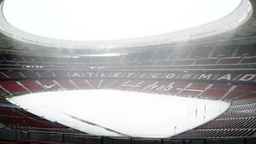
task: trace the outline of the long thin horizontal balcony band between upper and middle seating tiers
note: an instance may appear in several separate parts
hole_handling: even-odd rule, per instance
[[[36,66],[26,67],[26,65],[7,65],[0,64],[0,70],[255,70],[256,64],[218,64],[218,65],[152,65],[152,66],[106,66],[106,67],[87,67],[87,66]]]

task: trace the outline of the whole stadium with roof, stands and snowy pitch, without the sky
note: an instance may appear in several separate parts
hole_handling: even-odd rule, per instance
[[[111,40],[64,40],[22,31],[6,20],[6,1],[0,4],[0,143],[256,143],[255,1],[241,0],[228,15],[201,26]],[[117,92],[114,100],[108,93],[112,90]],[[95,100],[81,100],[76,92],[89,92],[82,97]],[[44,95],[48,101],[41,107],[18,103],[26,97],[27,104],[38,106],[43,100],[33,98],[43,94],[50,95]],[[140,99],[141,95],[147,96]],[[173,97],[188,99],[188,103],[169,100]],[[186,108],[188,117],[172,115],[171,111],[183,113],[178,109],[193,100],[196,107]],[[199,109],[201,100],[207,101],[203,110]],[[164,103],[154,105],[159,101]],[[210,101],[215,109],[212,117],[206,115]],[[46,109],[61,103],[60,109]],[[168,107],[176,103],[181,107]],[[80,109],[80,105],[87,107]],[[107,113],[122,106],[125,109],[118,115]],[[126,111],[135,106],[140,107],[134,110],[138,114]],[[67,107],[87,114],[105,113],[92,121],[68,113]],[[95,112],[96,107],[101,109]],[[162,108],[161,112],[152,107]],[[53,113],[53,109],[65,111]],[[76,122],[64,121],[64,115]],[[139,125],[128,126],[134,121],[129,117]],[[99,120],[103,118],[114,121],[113,126]],[[146,129],[150,118],[155,123],[149,125],[155,127]],[[161,123],[164,118],[167,123],[181,121],[181,125]],[[129,131],[119,129],[118,122]],[[188,127],[180,131],[184,123]],[[166,133],[152,134],[156,127]]]

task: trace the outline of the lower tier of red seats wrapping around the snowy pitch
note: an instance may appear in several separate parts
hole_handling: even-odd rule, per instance
[[[225,64],[232,65],[233,62]],[[84,77],[82,72],[76,72],[72,70],[72,68],[71,71],[54,70],[51,72],[47,72],[46,70],[4,70],[1,71],[1,79],[4,79],[0,81],[1,92],[5,94],[19,94],[58,89],[105,88],[136,92],[178,94],[180,96],[208,97],[210,99],[227,99],[233,100],[233,104],[223,115],[203,126],[176,135],[174,138],[176,138],[176,140],[209,137],[239,138],[255,134],[256,87],[253,83],[255,81],[255,75],[253,74],[203,74],[201,78],[204,79],[204,81],[201,82],[201,78],[198,78],[202,73],[197,72],[193,74],[169,74],[168,77],[171,77],[171,79],[164,79],[162,77],[164,74],[159,76],[160,74],[158,72],[151,74],[133,72],[134,74],[132,74],[131,77],[133,76],[136,79],[114,78],[112,77],[114,74],[111,74],[114,73],[114,71],[98,73],[98,76],[100,75],[99,79],[96,76],[92,76],[93,73],[95,72],[92,72],[90,76]],[[125,75],[126,73],[122,72],[122,74]],[[121,72],[116,74],[116,76],[117,75],[121,75]],[[154,79],[154,77],[157,77],[157,79]],[[137,80],[138,78],[141,80]],[[223,82],[223,80],[230,83],[218,83]],[[49,86],[52,85],[53,87],[49,88]],[[4,97],[1,97],[1,104],[11,105]],[[22,110],[18,108],[1,107],[1,123],[11,129],[15,129],[17,124],[21,125],[23,131],[70,132],[67,128],[55,126],[55,123],[48,124],[50,122],[38,122],[36,116],[27,118],[28,113],[25,114],[26,117],[24,117],[22,113],[20,114],[21,111]],[[19,114],[18,116],[17,113]]]

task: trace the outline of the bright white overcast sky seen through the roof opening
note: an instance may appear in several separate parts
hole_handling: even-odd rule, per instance
[[[223,18],[241,0],[5,0],[4,16],[28,33],[65,40],[156,35]]]

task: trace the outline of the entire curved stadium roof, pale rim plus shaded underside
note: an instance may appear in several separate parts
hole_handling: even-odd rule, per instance
[[[4,1],[0,9],[3,9]],[[251,5],[252,4],[252,5]],[[256,18],[252,13],[255,1],[242,0],[233,13],[203,26],[142,38],[105,41],[73,41],[44,38],[19,31],[9,25],[0,13],[0,50],[2,52],[94,53],[95,51],[141,50],[165,48],[173,45],[200,45],[202,43],[236,41],[255,43]],[[249,20],[248,20],[249,19]],[[247,21],[248,20],[248,21]],[[242,26],[241,26],[242,25]],[[97,50],[95,50],[97,48]],[[93,51],[93,52],[92,52]]]

